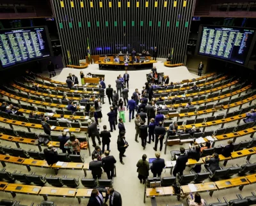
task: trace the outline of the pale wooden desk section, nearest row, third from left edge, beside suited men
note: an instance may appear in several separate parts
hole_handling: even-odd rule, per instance
[[[74,198],[76,196],[76,188],[52,188],[42,187],[39,193],[40,196],[44,196],[44,200],[47,201],[47,196],[59,196],[63,198]]]

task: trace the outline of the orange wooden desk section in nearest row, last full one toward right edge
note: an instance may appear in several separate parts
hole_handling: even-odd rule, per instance
[[[246,179],[246,177],[237,177],[227,180],[220,180],[215,182],[218,189],[227,189],[227,188],[235,188],[239,187],[240,190],[243,189],[244,185],[250,184],[250,182]]]

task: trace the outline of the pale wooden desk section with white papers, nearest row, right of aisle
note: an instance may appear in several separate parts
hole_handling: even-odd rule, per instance
[[[213,192],[218,190],[216,187],[216,184],[214,182],[205,182],[204,185],[202,183],[200,184],[194,184],[197,192],[210,192],[209,195],[212,196]],[[195,191],[191,191],[188,185],[181,186],[182,193],[183,194],[189,194],[193,193]]]

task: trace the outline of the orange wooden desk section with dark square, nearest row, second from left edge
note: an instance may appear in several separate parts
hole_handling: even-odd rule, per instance
[[[16,193],[26,195],[38,195],[40,192],[40,186],[30,186],[26,184],[8,184],[4,189],[6,193],[11,193],[12,197],[15,198]]]

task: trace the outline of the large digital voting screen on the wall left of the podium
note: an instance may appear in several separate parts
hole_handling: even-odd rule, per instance
[[[0,30],[0,61],[3,68],[51,56],[46,27]]]

